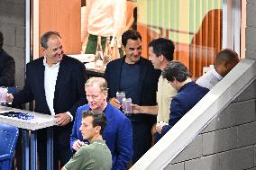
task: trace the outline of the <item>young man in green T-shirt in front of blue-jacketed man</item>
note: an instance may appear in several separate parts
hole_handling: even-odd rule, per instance
[[[79,130],[83,139],[87,139],[90,145],[79,148],[75,156],[61,170],[111,169],[111,153],[102,139],[106,125],[105,115],[103,112],[85,111],[81,123]]]

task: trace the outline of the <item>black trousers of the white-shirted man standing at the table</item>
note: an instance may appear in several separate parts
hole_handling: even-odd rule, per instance
[[[47,167],[47,130],[38,130],[38,157],[40,170],[46,170]],[[63,145],[59,143],[59,134],[53,130],[53,169],[59,169],[65,166],[69,159],[72,157],[72,152],[69,148],[69,143]]]

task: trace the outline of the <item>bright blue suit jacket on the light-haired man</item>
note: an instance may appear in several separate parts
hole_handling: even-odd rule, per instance
[[[88,110],[90,110],[88,104],[78,108],[70,137],[71,149],[76,140],[83,141],[79,128],[83,116],[82,112]],[[103,139],[112,154],[112,169],[127,169],[127,164],[133,157],[133,129],[131,122],[124,116],[123,112],[115,109],[111,104],[107,104],[104,113],[107,124],[103,132]]]

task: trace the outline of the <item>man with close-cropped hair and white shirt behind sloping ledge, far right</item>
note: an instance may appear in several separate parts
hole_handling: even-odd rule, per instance
[[[199,77],[196,82],[197,85],[211,90],[239,61],[238,54],[232,49],[221,50],[215,58],[215,67],[207,71],[205,75]]]

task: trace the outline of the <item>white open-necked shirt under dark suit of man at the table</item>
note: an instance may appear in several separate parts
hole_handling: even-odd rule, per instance
[[[55,92],[55,85],[57,81],[57,76],[59,73],[59,63],[52,65],[50,67],[46,63],[46,57],[43,59],[43,65],[45,67],[44,70],[44,91],[45,91],[45,97],[46,102],[48,104],[48,107],[50,109],[51,115],[55,115],[54,109],[53,109],[53,99],[54,99],[54,92]]]

